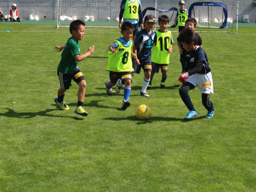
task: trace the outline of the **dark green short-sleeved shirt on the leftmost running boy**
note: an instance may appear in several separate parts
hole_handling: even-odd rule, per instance
[[[72,74],[74,72],[78,65],[74,55],[80,55],[80,49],[78,41],[75,41],[70,37],[61,54],[60,64],[57,68],[58,72],[65,74]]]

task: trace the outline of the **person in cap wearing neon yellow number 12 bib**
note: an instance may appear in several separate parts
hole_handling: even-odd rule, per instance
[[[179,2],[179,6],[180,6],[180,8],[178,9],[177,15],[175,17],[174,26],[176,26],[176,21],[177,21],[177,18],[178,18],[179,32],[181,32],[181,30],[185,26],[186,20],[188,19],[188,10],[185,9],[185,2],[183,0],[181,0]]]

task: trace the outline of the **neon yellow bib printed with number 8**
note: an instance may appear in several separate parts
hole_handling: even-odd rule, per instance
[[[131,48],[132,41],[130,40],[129,46],[124,46],[122,44],[122,40],[124,38],[119,38],[115,42],[118,44],[117,53],[107,51],[108,54],[108,66],[106,68],[107,71],[113,72],[133,72],[132,68],[132,58],[131,58]],[[127,41],[126,41],[127,42]]]

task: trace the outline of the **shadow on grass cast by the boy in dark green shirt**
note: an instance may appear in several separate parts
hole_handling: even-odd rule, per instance
[[[47,114],[48,112],[51,111],[55,111],[57,109],[46,109],[44,111],[39,111],[39,112],[15,112],[12,109],[9,108],[4,108],[6,110],[8,110],[8,112],[6,113],[0,113],[0,116],[6,116],[6,117],[12,117],[12,118],[33,118],[36,116],[45,116],[45,117],[64,117],[67,118],[68,116],[60,116],[60,115],[51,115],[51,114]],[[83,118],[78,118],[78,117],[68,117],[68,118],[72,118],[74,120],[84,120]]]

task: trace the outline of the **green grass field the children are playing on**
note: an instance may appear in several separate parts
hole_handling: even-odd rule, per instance
[[[10,30],[10,32],[5,32]],[[256,28],[238,34],[200,33],[214,80],[213,119],[206,119],[198,88],[189,92],[198,116],[178,89],[181,73],[176,38],[166,89],[161,74],[150,98],[139,96],[143,74],[132,82],[131,106],[123,91],[106,94],[106,50],[117,28],[86,28],[79,63],[87,82],[87,117],[74,113],[78,86],[66,92],[69,111],[54,103],[60,52],[68,28],[48,24],[0,24],[0,191],[254,192],[256,191]],[[150,119],[138,120],[147,104]]]

